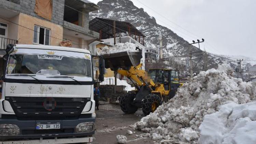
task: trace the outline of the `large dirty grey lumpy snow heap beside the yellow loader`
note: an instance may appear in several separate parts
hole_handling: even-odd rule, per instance
[[[160,140],[197,143],[205,115],[219,111],[220,106],[227,103],[244,104],[255,99],[256,85],[231,74],[227,64],[219,65],[217,70],[200,72],[179,88],[174,98],[134,124],[134,128],[158,135]]]

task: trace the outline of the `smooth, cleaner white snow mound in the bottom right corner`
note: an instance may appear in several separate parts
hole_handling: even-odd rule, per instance
[[[256,102],[222,105],[216,113],[205,115],[200,125],[201,144],[255,144]]]

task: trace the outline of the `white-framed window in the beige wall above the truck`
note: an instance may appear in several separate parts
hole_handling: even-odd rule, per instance
[[[34,26],[33,43],[50,45],[50,33],[50,29]]]

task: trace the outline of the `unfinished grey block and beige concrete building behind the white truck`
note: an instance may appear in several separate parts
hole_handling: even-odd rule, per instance
[[[89,49],[99,33],[89,30],[89,12],[99,6],[87,0],[1,0],[0,48],[7,43]]]

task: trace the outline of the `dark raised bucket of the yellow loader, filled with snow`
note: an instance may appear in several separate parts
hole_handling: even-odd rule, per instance
[[[113,54],[102,55],[105,60],[105,68],[112,71],[122,68],[129,70],[131,66],[138,66],[142,58],[142,52],[118,52]]]

